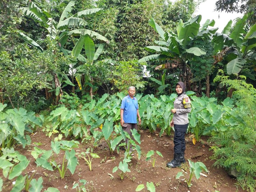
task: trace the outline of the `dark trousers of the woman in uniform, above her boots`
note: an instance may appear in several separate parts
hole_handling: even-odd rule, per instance
[[[186,145],[185,145],[185,134],[187,131],[188,123],[184,125],[177,125],[174,124],[174,153],[175,154],[181,154],[181,152],[185,151]]]

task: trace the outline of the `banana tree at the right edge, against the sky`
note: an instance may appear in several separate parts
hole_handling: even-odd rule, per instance
[[[218,62],[227,63],[227,74],[238,74],[255,80],[251,73],[251,68],[256,70],[256,24],[249,30],[246,26],[247,15],[244,15],[236,25],[234,30],[229,34],[229,30],[224,33],[216,33],[213,36],[213,42],[217,45],[216,50],[224,50],[223,57]],[[230,26],[232,21],[230,21]],[[247,70],[242,70],[242,69]]]

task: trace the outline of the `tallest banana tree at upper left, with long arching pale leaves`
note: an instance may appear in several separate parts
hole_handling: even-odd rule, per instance
[[[80,26],[85,26],[87,22],[80,18],[83,15],[90,15],[96,12],[101,11],[101,8],[88,9],[77,12],[76,14],[69,16],[69,13],[72,11],[72,7],[75,5],[75,1],[70,1],[64,11],[62,12],[59,21],[55,21],[51,14],[47,11],[42,11],[35,3],[32,1],[27,1],[28,7],[20,8],[24,16],[33,19],[35,22],[40,24],[42,27],[46,28],[48,31],[47,36],[51,39],[55,39],[56,36],[59,36],[59,47],[60,50],[65,54],[66,50],[63,46],[66,44],[69,35],[77,36],[77,35],[90,35],[91,37],[95,36],[97,39],[108,42],[104,36],[100,35],[95,31],[91,31],[88,29],[74,29],[69,31],[69,28],[77,28]],[[25,37],[29,44],[34,46],[35,48],[42,51],[43,49],[32,39],[28,38],[25,34],[21,34]],[[57,75],[54,74],[55,87],[59,87],[59,80]],[[62,89],[60,89],[62,92]]]

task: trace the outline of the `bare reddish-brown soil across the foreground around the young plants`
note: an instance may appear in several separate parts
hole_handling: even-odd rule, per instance
[[[237,189],[235,186],[235,179],[232,179],[228,176],[227,172],[223,168],[213,167],[214,161],[210,159],[212,156],[212,151],[209,151],[209,145],[207,144],[207,138],[202,138],[202,142],[196,143],[194,145],[192,140],[186,135],[186,151],[185,158],[186,163],[180,168],[168,168],[166,163],[171,161],[173,157],[173,139],[172,136],[168,137],[163,135],[159,137],[157,133],[150,134],[148,131],[140,130],[141,134],[141,159],[138,160],[137,153],[133,156],[132,161],[129,163],[130,173],[127,173],[124,180],[121,180],[117,172],[112,173],[112,169],[115,166],[118,166],[119,162],[123,160],[124,151],[120,151],[119,154],[114,152],[110,154],[108,146],[104,141],[99,144],[98,147],[94,148],[94,152],[97,153],[100,158],[93,159],[92,162],[92,171],[89,170],[89,166],[86,165],[83,159],[79,159],[79,165],[77,165],[75,173],[71,175],[69,170],[66,172],[64,179],[60,179],[59,172],[48,171],[41,167],[37,167],[33,157],[31,156],[31,151],[33,147],[36,146],[33,143],[40,142],[42,143],[39,148],[49,150],[51,149],[52,138],[45,136],[44,132],[38,130],[36,134],[31,135],[31,145],[26,146],[23,149],[20,146],[17,146],[15,150],[18,150],[21,154],[26,155],[30,160],[30,163],[27,167],[27,173],[32,175],[32,171],[35,170],[34,178],[43,178],[43,191],[48,187],[55,187],[59,189],[60,192],[63,191],[76,191],[72,189],[74,182],[79,182],[80,179],[85,179],[88,181],[86,185],[87,191],[95,192],[124,192],[124,191],[135,191],[139,184],[144,184],[145,188],[142,191],[147,191],[146,183],[153,182],[156,191],[198,191],[198,192],[233,192],[233,191],[242,191]],[[81,141],[80,141],[81,143]],[[80,144],[80,148],[75,149],[76,151],[85,151],[91,144]],[[146,154],[150,150],[158,150],[162,153],[163,158],[155,154],[156,164],[155,167],[152,167],[151,161],[145,161]],[[63,151],[56,157],[57,162],[61,163],[63,158]],[[114,159],[114,160],[113,160]],[[198,180],[193,177],[192,184],[193,186],[188,189],[185,182],[185,178],[189,179],[189,164],[187,159],[190,159],[194,162],[200,161],[203,162],[208,170],[208,173],[204,173],[207,177],[201,176]],[[112,160],[112,161],[108,161]],[[181,177],[179,180],[175,179],[175,176],[180,171],[184,173],[184,177]],[[25,173],[24,173],[25,174]],[[114,178],[110,175],[112,174]],[[0,177],[2,172],[0,172]],[[12,180],[13,181],[13,180]],[[3,191],[10,191],[12,188],[12,181],[8,179],[3,179]],[[66,187],[65,187],[66,186]]]

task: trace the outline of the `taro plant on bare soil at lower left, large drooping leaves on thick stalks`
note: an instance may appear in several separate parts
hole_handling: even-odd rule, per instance
[[[56,167],[59,171],[60,178],[63,179],[65,177],[65,173],[67,169],[73,175],[75,172],[75,168],[77,165],[77,158],[75,157],[75,150],[79,145],[78,141],[55,141],[51,142],[52,150],[45,151],[40,158],[35,160],[35,163],[38,166],[41,166],[47,170],[53,171],[53,167]],[[58,164],[55,160],[53,160],[53,151],[58,155],[60,150],[65,151],[63,156],[63,160],[61,164]],[[66,161],[67,160],[67,161]]]

